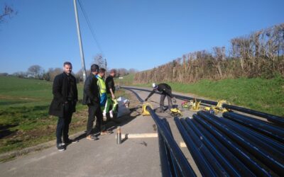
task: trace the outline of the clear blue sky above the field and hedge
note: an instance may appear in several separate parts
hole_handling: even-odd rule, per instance
[[[284,23],[283,0],[80,0],[86,69],[102,54],[108,68],[143,71],[190,52]],[[17,11],[0,23],[0,72],[82,68],[73,0],[0,0]],[[96,42],[97,41],[97,42]],[[99,45],[97,45],[99,44]]]

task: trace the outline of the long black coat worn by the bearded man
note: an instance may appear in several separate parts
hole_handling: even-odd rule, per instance
[[[78,100],[77,82],[75,76],[69,75],[72,79],[73,85],[68,86],[67,74],[63,72],[55,76],[53,81],[53,101],[51,101],[49,114],[62,117],[63,116],[63,104],[68,100],[68,91],[72,89],[73,100],[71,111],[74,113],[76,111],[76,102]]]

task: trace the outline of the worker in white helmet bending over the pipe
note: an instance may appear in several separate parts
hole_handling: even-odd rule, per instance
[[[170,86],[165,83],[158,84],[158,85],[153,83],[152,86],[153,86],[153,91],[151,91],[151,93],[147,96],[145,101],[148,101],[148,98],[150,98],[155,93],[155,91],[159,91],[160,92],[160,112],[161,113],[164,112],[164,101],[165,101],[166,96],[168,98],[169,109],[173,108],[173,102],[176,103],[176,101],[175,101],[175,97],[172,94],[172,88],[170,88]],[[173,102],[172,102],[172,99],[173,99]]]

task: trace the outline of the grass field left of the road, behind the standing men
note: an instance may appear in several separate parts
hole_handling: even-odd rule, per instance
[[[77,84],[82,100],[82,84]],[[123,91],[116,96],[125,96]],[[48,115],[52,83],[0,76],[0,153],[31,147],[55,139],[58,118]],[[85,130],[87,106],[77,103],[70,135]]]

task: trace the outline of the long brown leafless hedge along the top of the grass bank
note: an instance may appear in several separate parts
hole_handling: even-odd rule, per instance
[[[200,79],[284,76],[284,23],[233,38],[230,45],[227,50],[213,47],[210,51],[182,55],[167,64],[136,73],[134,82],[191,83]]]

